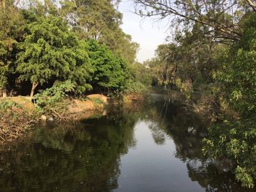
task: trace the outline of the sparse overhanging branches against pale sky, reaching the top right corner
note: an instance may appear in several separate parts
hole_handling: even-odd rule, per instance
[[[141,16],[170,18],[171,26],[191,28],[195,23],[202,25],[203,35],[215,42],[233,42],[241,38],[239,21],[241,15],[252,9],[255,3],[244,1],[170,1],[135,0],[135,12]],[[178,26],[179,25],[179,26]]]

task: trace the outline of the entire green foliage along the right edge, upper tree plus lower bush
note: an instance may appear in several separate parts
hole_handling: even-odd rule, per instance
[[[225,157],[236,166],[236,179],[252,188],[256,179],[256,15],[243,18],[241,39],[223,53],[215,78],[219,95],[236,112],[209,128],[204,139],[205,152],[214,158]]]

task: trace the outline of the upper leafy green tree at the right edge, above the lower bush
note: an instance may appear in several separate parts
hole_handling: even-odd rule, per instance
[[[256,14],[244,16],[241,40],[224,53],[217,82],[230,106],[243,116],[256,113]]]

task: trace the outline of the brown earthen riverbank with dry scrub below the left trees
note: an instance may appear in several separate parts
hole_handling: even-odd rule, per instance
[[[101,94],[85,99],[63,99],[42,111],[26,96],[0,98],[0,142],[12,142],[39,121],[79,120],[105,114],[108,97]]]

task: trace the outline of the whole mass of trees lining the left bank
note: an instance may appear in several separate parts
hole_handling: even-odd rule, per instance
[[[138,45],[121,30],[118,1],[0,4],[0,91],[30,96],[70,81],[74,94],[123,91]],[[10,14],[11,13],[11,14]]]

